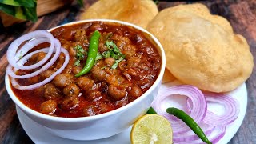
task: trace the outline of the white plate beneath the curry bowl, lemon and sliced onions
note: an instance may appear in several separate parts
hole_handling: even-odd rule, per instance
[[[165,87],[165,86],[162,86]],[[226,134],[225,136],[218,142],[218,144],[225,144],[227,142],[230,142],[230,139],[234,137],[234,134],[238,131],[239,127],[242,124],[242,120],[245,117],[246,114],[246,106],[247,106],[247,90],[246,90],[246,84],[243,83],[242,86],[239,86],[237,90],[234,90],[229,93],[232,97],[236,98],[239,102],[240,107],[240,113],[238,115],[238,118],[230,125],[226,127]],[[129,144],[130,143],[130,129],[127,129],[123,131],[120,134],[114,135],[110,138],[104,138],[100,140],[94,140],[94,141],[75,141],[70,140],[66,138],[60,138],[58,136],[55,136],[53,134],[49,134],[44,128],[42,128],[41,125],[34,122],[30,118],[26,116],[16,106],[17,114],[19,121],[22,124],[23,129],[26,131],[26,134],[32,139],[34,143],[37,144],[43,144],[43,143],[54,143],[54,144],[70,144],[70,143],[81,143],[81,144],[105,144],[105,143],[122,143],[122,144]],[[214,110],[217,112],[222,112],[223,108],[219,106],[209,106],[210,110]]]

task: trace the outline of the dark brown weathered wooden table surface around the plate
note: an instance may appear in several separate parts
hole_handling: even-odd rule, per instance
[[[225,0],[225,1],[199,1],[209,7],[212,14],[219,14],[227,18],[234,28],[234,32],[242,34],[250,45],[250,51],[256,58],[256,0]],[[81,14],[94,0],[85,0],[85,8],[77,4],[64,7],[51,14],[38,18],[38,22],[23,22],[18,25],[3,28],[0,25],[0,143],[33,143],[22,129],[18,121],[14,102],[6,91],[4,76],[6,73],[6,50],[10,42],[33,30],[48,30],[66,22],[78,20]],[[158,9],[191,2],[159,2]],[[1,23],[1,22],[0,22]],[[254,59],[255,62],[255,59]],[[237,134],[230,144],[256,143],[256,70],[246,81],[248,90],[248,106],[246,117]]]

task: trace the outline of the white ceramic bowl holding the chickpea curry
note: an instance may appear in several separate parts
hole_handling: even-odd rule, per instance
[[[10,78],[6,74],[6,89],[10,98],[15,102],[15,104],[20,107],[20,109],[34,122],[44,126],[46,130],[49,130],[51,134],[58,135],[62,138],[69,138],[74,140],[94,140],[100,138],[107,138],[122,132],[130,127],[137,118],[146,114],[146,110],[149,109],[151,102],[153,102],[154,97],[158,94],[159,86],[162,82],[162,77],[164,74],[166,66],[166,56],[162,45],[158,42],[152,34],[142,29],[139,26],[135,26],[128,22],[121,22],[116,20],[106,20],[106,19],[92,19],[79,22],[71,22],[62,26],[70,26],[73,24],[83,23],[83,22],[114,22],[126,26],[132,26],[136,30],[141,30],[143,34],[150,39],[150,41],[157,47],[158,53],[160,54],[162,65],[158,78],[154,84],[147,90],[141,97],[130,102],[126,106],[122,106],[117,110],[112,110],[105,114],[98,114],[90,117],[81,118],[61,118],[54,117],[46,114],[41,114],[35,110],[30,109],[25,106],[22,102],[18,100],[15,96],[13,90],[10,88]],[[59,27],[59,26],[58,26]],[[55,27],[57,28],[57,27]],[[55,28],[51,29],[54,30]]]

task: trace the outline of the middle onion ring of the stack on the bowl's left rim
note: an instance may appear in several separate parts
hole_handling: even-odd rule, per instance
[[[10,77],[12,77],[12,78],[31,78],[31,77],[34,77],[34,76],[36,76],[36,75],[38,75],[38,74],[41,74],[42,71],[47,70],[50,66],[52,66],[52,65],[54,64],[54,62],[57,61],[58,56],[59,56],[59,54],[61,53],[61,44],[60,44],[60,42],[59,42],[57,39],[55,39],[54,42],[55,42],[55,47],[54,47],[54,48],[55,48],[55,50],[54,50],[55,54],[54,54],[53,58],[50,59],[50,62],[46,63],[46,65],[42,66],[42,68],[40,68],[39,70],[36,70],[36,71],[34,71],[33,73],[30,73],[30,74],[17,75],[17,74],[15,74],[15,72],[16,72],[18,69],[16,69],[16,70],[13,71],[13,70],[12,70],[13,67],[9,65],[9,66],[7,66],[7,68],[6,68],[7,74],[9,74]],[[27,62],[27,60],[28,60],[33,54],[36,54],[36,53],[38,53],[38,52],[49,53],[49,51],[50,51],[50,48],[44,48],[44,49],[40,49],[40,50],[35,50],[35,51],[31,52],[30,54],[26,54],[25,57],[21,58],[21,59],[18,61],[18,64],[24,65],[24,63]]]

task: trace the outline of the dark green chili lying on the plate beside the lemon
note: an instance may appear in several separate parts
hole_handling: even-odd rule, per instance
[[[198,135],[199,138],[202,139],[203,142],[206,142],[207,144],[211,144],[211,142],[206,137],[206,134],[203,133],[202,129],[196,122],[194,122],[194,119],[191,118],[188,114],[186,114],[184,111],[179,110],[174,107],[170,107],[166,110],[167,113],[173,114],[177,118],[181,119],[183,122],[186,123],[187,126],[190,127],[191,130],[194,131],[195,134]]]

